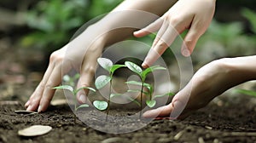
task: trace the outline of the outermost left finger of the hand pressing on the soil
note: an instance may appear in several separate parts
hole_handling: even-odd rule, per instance
[[[27,111],[36,111],[38,109],[40,99],[44,92],[44,87],[45,87],[44,85],[47,82],[52,70],[53,70],[53,64],[49,63],[49,66],[46,72],[44,73],[44,77],[42,81],[38,84],[38,87],[35,89],[31,97],[29,98],[29,100],[26,102],[25,107]]]

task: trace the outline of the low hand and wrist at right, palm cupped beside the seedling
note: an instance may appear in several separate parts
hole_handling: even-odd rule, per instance
[[[219,94],[256,79],[256,56],[215,60],[203,66],[167,106],[145,112],[143,117],[184,118]]]

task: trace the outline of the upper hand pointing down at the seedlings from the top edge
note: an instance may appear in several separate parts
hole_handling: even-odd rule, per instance
[[[151,66],[172,44],[177,34],[189,29],[181,48],[184,56],[189,56],[201,35],[210,25],[215,10],[216,0],[179,0],[159,20],[140,31],[135,37],[144,37],[158,31],[152,48],[143,62],[143,67]]]

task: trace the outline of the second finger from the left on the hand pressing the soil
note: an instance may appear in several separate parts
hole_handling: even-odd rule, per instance
[[[61,83],[61,65],[55,66],[52,74],[49,76],[49,79],[44,87],[44,93],[40,100],[40,104],[38,106],[38,112],[44,112],[49,106],[49,102],[55,94],[55,86],[60,85]]]

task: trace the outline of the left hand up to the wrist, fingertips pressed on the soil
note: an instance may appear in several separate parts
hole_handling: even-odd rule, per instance
[[[52,88],[60,85],[61,77],[71,69],[80,72],[78,88],[90,86],[96,71],[96,59],[102,54],[103,41],[99,38],[95,43],[91,43],[95,39],[92,40],[91,37],[93,36],[88,34],[88,32],[91,33],[90,30],[84,31],[72,42],[67,43],[62,49],[50,55],[49,66],[44,73],[42,81],[26,102],[27,111],[37,110],[38,112],[44,112],[55,94],[55,89]],[[86,101],[85,94],[88,91],[84,90],[84,92],[80,92],[77,96],[80,103]]]

